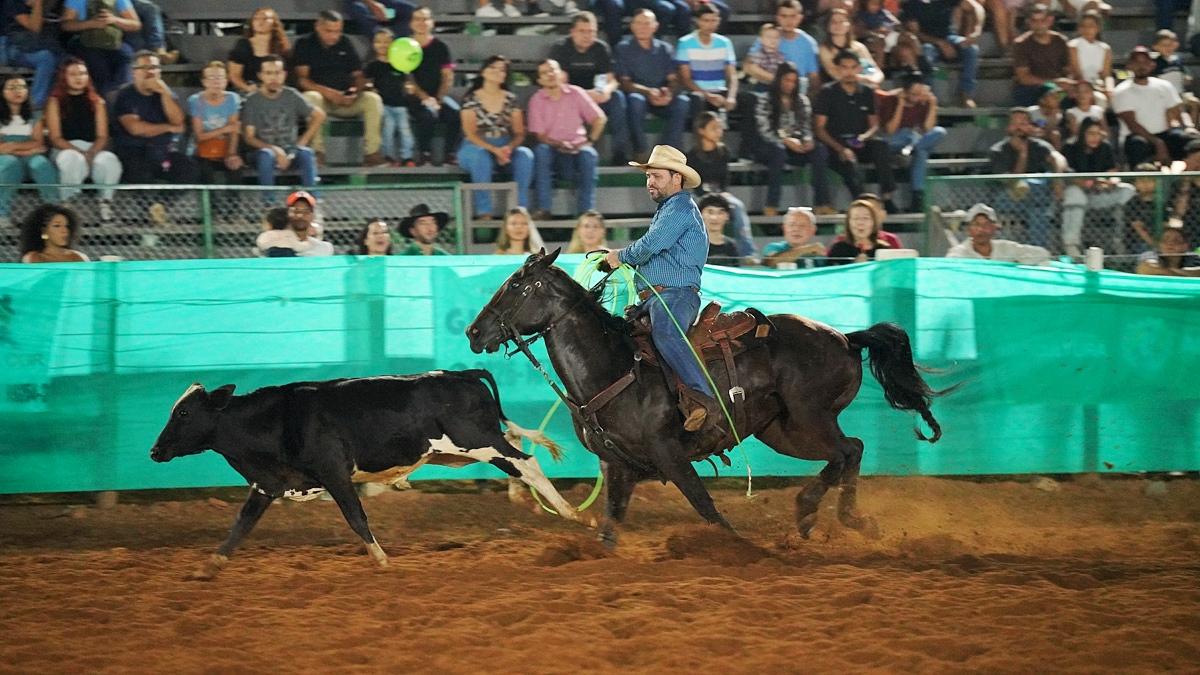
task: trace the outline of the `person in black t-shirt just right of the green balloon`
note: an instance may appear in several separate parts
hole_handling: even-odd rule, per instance
[[[418,103],[409,108],[413,135],[420,156],[416,166],[433,161],[433,136],[437,125],[445,127],[445,163],[456,165],[455,153],[462,139],[458,102],[450,97],[454,85],[454,61],[445,42],[433,37],[433,10],[418,7],[413,12],[413,40],[421,46],[421,64],[413,71]]]

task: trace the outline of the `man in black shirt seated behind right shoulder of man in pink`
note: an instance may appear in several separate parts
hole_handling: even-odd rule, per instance
[[[599,24],[592,12],[577,12],[571,20],[571,35],[550,50],[570,84],[588,92],[608,117],[606,131],[612,143],[612,163],[629,161],[629,114],[625,92],[612,70],[612,50],[598,40]],[[641,123],[641,120],[638,120]]]

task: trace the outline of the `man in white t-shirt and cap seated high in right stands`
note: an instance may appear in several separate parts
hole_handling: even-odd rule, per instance
[[[1133,77],[1112,90],[1112,110],[1121,118],[1129,166],[1182,160],[1188,142],[1200,136],[1195,126],[1183,124],[1183,100],[1170,82],[1150,74],[1154,72],[1150,49],[1134,47],[1126,66]]]

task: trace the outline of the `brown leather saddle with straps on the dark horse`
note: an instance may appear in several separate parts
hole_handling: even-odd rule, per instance
[[[632,336],[637,342],[638,358],[647,365],[662,368],[658,350],[650,336],[649,312],[640,311],[629,318],[632,325]],[[730,390],[719,392],[718,395],[733,406],[734,424],[740,429],[745,424],[745,389],[739,384],[737,366],[733,358],[745,352],[750,346],[748,339],[763,339],[772,331],[772,323],[762,312],[756,309],[721,313],[720,303],[709,303],[700,312],[696,324],[688,329],[688,341],[700,354],[704,364],[725,365],[730,377]],[[696,405],[690,400],[691,393],[674,372],[672,381],[680,393],[679,410],[688,417],[690,406]],[[719,416],[709,416],[714,419]],[[714,420],[715,422],[715,420]],[[708,426],[708,424],[706,424]]]

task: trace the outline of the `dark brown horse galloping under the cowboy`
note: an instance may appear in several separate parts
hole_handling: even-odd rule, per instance
[[[571,407],[588,404],[611,384],[634,371],[636,380],[595,412],[595,424],[574,416],[575,432],[602,462],[608,500],[600,536],[616,543],[617,526],[624,520],[634,486],[640,480],[671,480],[692,508],[710,524],[732,527],[716,510],[692,461],[734,446],[733,434],[719,428],[688,432],[676,408],[677,396],[661,370],[637,365],[637,348],[629,324],[613,317],[569,274],[553,265],[558,251],[535,253],[512,274],[467,327],[470,348],[496,352],[502,344],[523,335],[545,336],[551,364],[566,389]],[[838,416],[858,394],[863,382],[862,351],[866,350],[871,372],[883,387],[888,404],[916,411],[932,430],[941,428],[929,411],[940,394],[925,383],[913,364],[908,335],[902,328],[878,323],[866,330],[841,334],[833,328],[794,315],[767,317],[773,324],[762,340],[750,340],[737,357],[739,384],[745,389],[745,416],[738,434],[757,436],[775,452],[797,459],[828,462],[796,497],[796,520],[808,537],[816,524],[817,507],[829,488],[841,486],[838,516],[857,530],[874,526],[856,508],[863,442],[847,437]],[[721,399],[731,406],[730,378],[725,366],[710,372]],[[598,426],[602,432],[598,432]],[[607,436],[612,446],[605,443]]]

